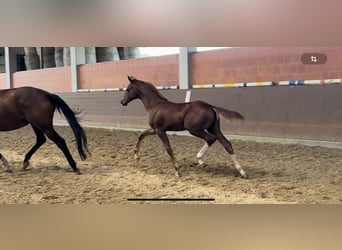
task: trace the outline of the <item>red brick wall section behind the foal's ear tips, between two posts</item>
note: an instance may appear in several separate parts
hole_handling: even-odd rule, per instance
[[[156,86],[179,84],[178,55],[82,65],[79,71],[81,89],[124,88],[127,75]]]

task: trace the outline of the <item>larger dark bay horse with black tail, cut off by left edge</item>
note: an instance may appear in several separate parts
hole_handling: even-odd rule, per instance
[[[64,153],[72,170],[80,174],[65,140],[53,128],[55,109],[68,121],[77,142],[78,153],[82,160],[87,158],[87,137],[78,122],[79,112],[72,110],[62,98],[41,89],[21,87],[0,90],[0,131],[10,131],[31,125],[37,140],[25,155],[23,169],[29,166],[32,155],[46,142],[45,135]],[[5,170],[11,172],[9,164],[0,153]]]

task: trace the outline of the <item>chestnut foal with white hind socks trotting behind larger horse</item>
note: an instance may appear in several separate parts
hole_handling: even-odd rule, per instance
[[[142,140],[149,135],[157,134],[164,144],[164,147],[171,157],[176,169],[176,176],[179,176],[179,165],[173,155],[166,131],[188,130],[192,135],[206,141],[205,145],[197,154],[200,165],[203,164],[202,156],[205,151],[218,140],[226,151],[231,155],[235,168],[242,177],[247,178],[245,171],[236,159],[230,141],[228,141],[220,128],[220,114],[227,119],[244,119],[235,111],[216,107],[203,101],[189,103],[173,103],[168,101],[152,84],[128,77],[129,85],[125,91],[121,104],[126,106],[134,99],[140,99],[145,106],[149,116],[150,129],[143,131],[136,144],[135,158],[139,159],[138,152]]]

